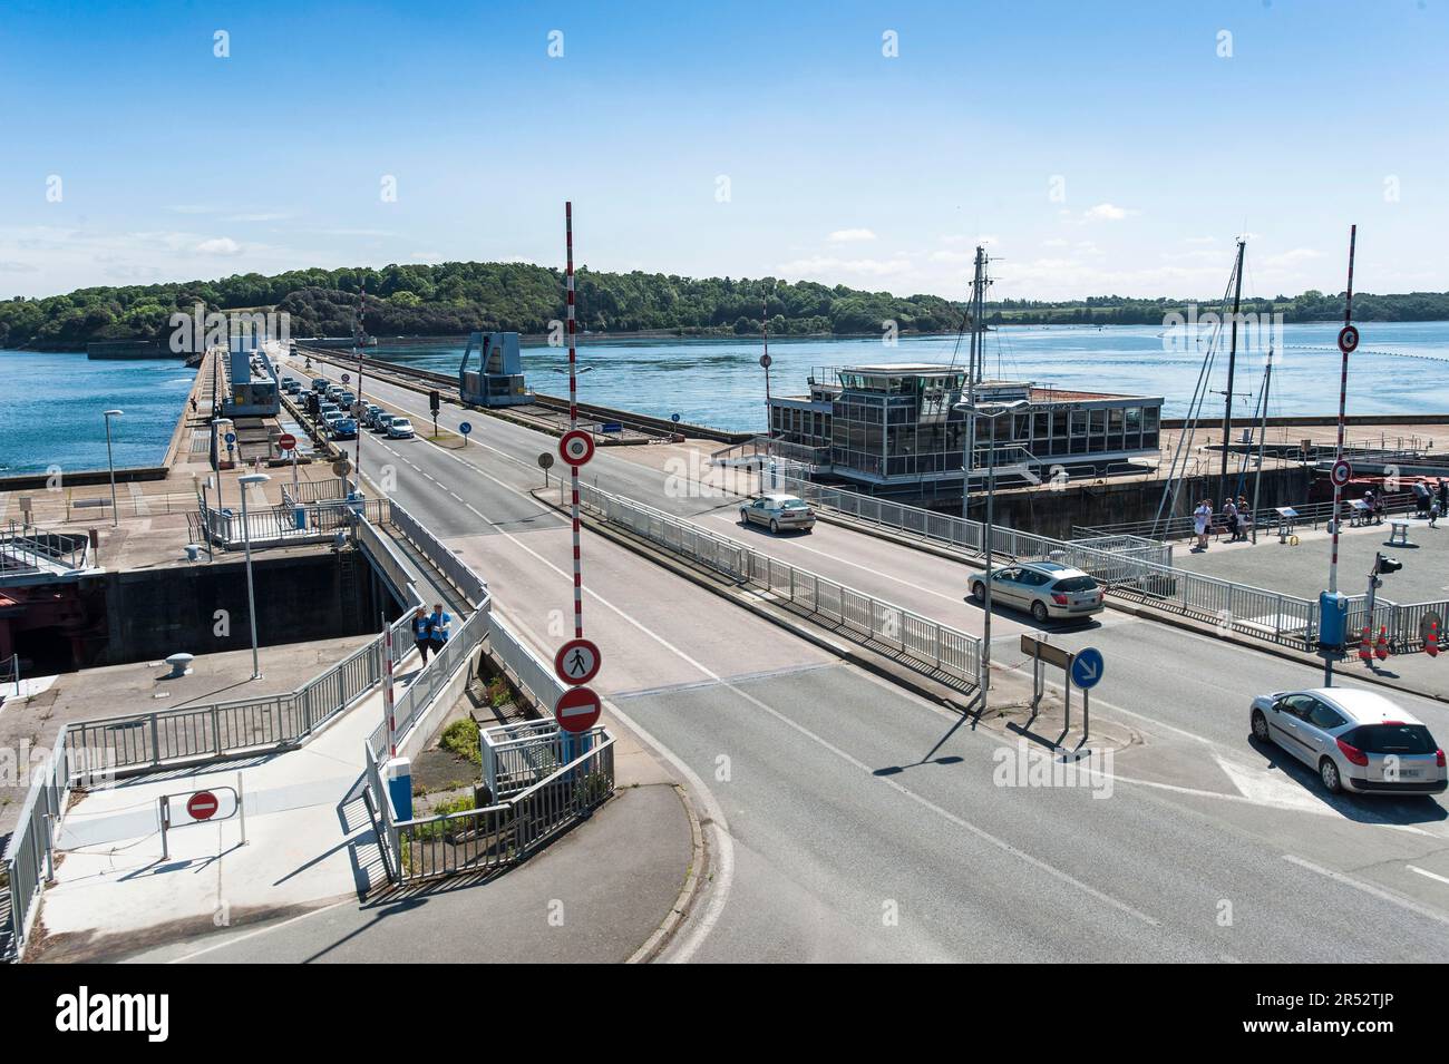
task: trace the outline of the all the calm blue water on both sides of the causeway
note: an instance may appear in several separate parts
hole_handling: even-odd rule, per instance
[[[987,375],[1059,388],[1162,395],[1168,417],[1187,411],[1203,356],[1164,350],[1156,326],[1107,329],[1013,327],[987,336]],[[1332,414],[1339,401],[1337,326],[1285,326],[1274,359],[1269,414]],[[1349,371],[1350,414],[1449,411],[1449,321],[1368,323]],[[955,336],[903,339],[772,340],[771,389],[800,395],[814,366],[875,362],[951,362]],[[1223,345],[1226,350],[1226,343]],[[958,362],[965,359],[965,345]],[[378,358],[456,373],[462,345],[378,346]],[[582,337],[580,398],[732,430],[764,426],[759,337],[743,340],[591,340]],[[562,347],[525,347],[529,385],[568,392]],[[1237,413],[1250,415],[1262,388],[1264,352],[1239,352]],[[101,411],[119,407],[116,465],[159,462],[181,413],[194,371],[180,362],[90,362],[84,355],[0,350],[0,476],[106,465]],[[1226,353],[1210,388],[1222,392]],[[1211,395],[1211,415],[1223,397]]]

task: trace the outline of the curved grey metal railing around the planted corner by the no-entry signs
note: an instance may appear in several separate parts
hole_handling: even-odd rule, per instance
[[[410,821],[396,818],[378,760],[365,747],[364,776],[393,882],[494,871],[588,816],[614,792],[614,740],[598,734],[593,748],[504,802]]]

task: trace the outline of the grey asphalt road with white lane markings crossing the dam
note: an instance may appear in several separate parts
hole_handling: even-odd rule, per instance
[[[369,394],[427,420],[422,395]],[[364,470],[391,473],[548,650],[571,601],[568,534],[526,491],[555,442],[449,407],[440,423],[464,417],[481,423],[467,449],[369,436]],[[664,495],[662,475],[629,459],[600,452],[594,478],[751,536],[719,499]],[[955,563],[826,525],[751,541],[980,628]],[[1114,612],[1056,631],[1107,654],[1094,718],[1133,735],[1090,777],[1111,785],[1095,798],[1003,779],[1014,734],[955,727],[609,541],[588,537],[584,557],[610,711],[652,738],[710,822],[710,886],[675,960],[1436,960],[1449,944],[1442,803],[1329,799],[1246,740],[1250,696],[1314,685],[1313,669]],[[1032,627],[997,618],[997,660],[1020,657]],[[1406,701],[1449,731],[1443,706]]]

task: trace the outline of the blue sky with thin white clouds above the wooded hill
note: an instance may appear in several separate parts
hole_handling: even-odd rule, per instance
[[[1449,0],[0,0],[0,298],[525,261],[1449,290]]]

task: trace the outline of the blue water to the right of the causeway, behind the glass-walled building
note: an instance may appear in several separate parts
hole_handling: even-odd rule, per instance
[[[1201,350],[1164,350],[1158,326],[1107,329],[1011,327],[987,334],[988,376],[1035,381],[1084,391],[1161,395],[1168,417],[1187,413],[1203,365]],[[1336,324],[1284,326],[1274,356],[1269,414],[1333,414],[1339,405]],[[1222,411],[1227,376],[1226,334],[1210,379],[1210,410]],[[771,340],[774,395],[801,395],[814,366],[878,362],[951,362],[955,336],[901,339],[887,347],[875,339]],[[377,356],[456,373],[462,346],[380,346]],[[1371,353],[1374,352],[1374,353]],[[1378,353],[1382,352],[1382,353]],[[580,398],[730,430],[764,426],[764,371],[759,337],[745,340],[590,340],[578,359],[593,369],[580,378]],[[1264,382],[1264,350],[1239,345],[1237,414],[1248,417]],[[961,345],[958,363],[966,359]],[[477,360],[474,362],[477,365]],[[567,395],[568,350],[525,347],[529,387]],[[561,372],[562,371],[562,372]],[[1369,323],[1349,368],[1349,413],[1449,411],[1449,321]]]

